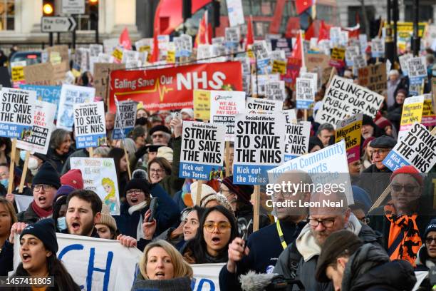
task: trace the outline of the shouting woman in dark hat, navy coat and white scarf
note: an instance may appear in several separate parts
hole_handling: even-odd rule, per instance
[[[137,248],[143,250],[152,238],[145,238],[142,228],[151,196],[157,197],[155,213],[156,231],[160,235],[175,225],[179,219],[177,205],[159,184],[149,184],[145,179],[133,178],[125,188],[126,200],[121,204],[120,215],[115,216],[120,233],[137,239]],[[148,218],[148,217],[147,217]]]

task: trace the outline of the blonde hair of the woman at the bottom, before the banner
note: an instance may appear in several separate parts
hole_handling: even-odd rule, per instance
[[[170,255],[171,262],[174,267],[174,278],[190,277],[190,279],[192,279],[192,267],[187,262],[185,262],[185,260],[183,260],[180,252],[178,252],[175,247],[170,244],[170,242],[166,242],[165,240],[155,240],[153,242],[150,242],[145,247],[144,254],[142,255],[140,260],[140,272],[145,279],[150,279],[147,276],[147,256],[148,252],[150,252],[153,247],[162,247],[162,249],[164,249],[165,252]]]

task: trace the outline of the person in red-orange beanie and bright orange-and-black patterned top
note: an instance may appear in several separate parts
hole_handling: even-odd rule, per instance
[[[430,222],[432,210],[422,197],[423,178],[411,165],[395,170],[390,176],[390,200],[369,213],[370,227],[383,234],[383,247],[391,260],[407,260],[415,266],[422,245],[421,235]]]

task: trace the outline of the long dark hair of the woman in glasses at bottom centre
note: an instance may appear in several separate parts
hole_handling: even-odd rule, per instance
[[[230,230],[229,242],[227,242],[227,245],[222,248],[222,250],[219,252],[219,255],[217,257],[225,258],[225,260],[227,261],[227,247],[232,242],[232,240],[234,240],[234,238],[236,238],[238,235],[238,227],[237,227],[236,219],[234,218],[234,215],[232,215],[232,213],[229,212],[229,210],[227,210],[221,205],[207,208],[206,211],[204,211],[203,215],[199,218],[199,227],[197,229],[197,235],[195,235],[195,237],[192,238],[192,240],[187,241],[187,245],[185,248],[185,250],[192,251],[192,256],[194,257],[196,264],[203,264],[207,262],[206,259],[207,246],[206,246],[206,241],[204,240],[203,225],[206,222],[207,216],[213,211],[218,211],[219,213],[222,213],[222,215],[224,215],[229,220],[229,223],[232,226],[232,229]]]

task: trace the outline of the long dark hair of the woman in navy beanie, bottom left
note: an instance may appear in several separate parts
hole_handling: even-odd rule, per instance
[[[53,276],[54,278],[54,287],[48,287],[49,290],[58,290],[58,291],[80,291],[81,287],[79,287],[76,282],[74,282],[73,277],[71,277],[70,273],[63,266],[61,260],[58,260],[55,254],[52,254],[50,257],[47,257],[47,267],[48,267],[48,276]],[[16,268],[16,272],[14,276],[30,276],[30,274],[24,269],[23,263]],[[31,287],[15,287],[16,291],[27,291],[31,290]]]

